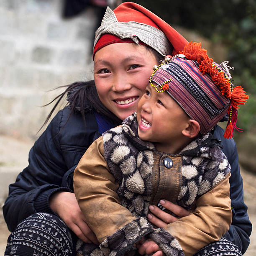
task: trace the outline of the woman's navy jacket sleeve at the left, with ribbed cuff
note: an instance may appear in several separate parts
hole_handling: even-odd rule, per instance
[[[9,186],[3,214],[10,231],[35,212],[53,213],[49,206],[52,193],[59,190],[72,192],[61,187],[62,177],[67,172],[59,145],[62,115],[61,110],[35,142],[29,152],[29,165]]]

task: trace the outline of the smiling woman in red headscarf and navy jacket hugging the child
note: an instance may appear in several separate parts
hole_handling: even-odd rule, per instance
[[[95,84],[78,82],[68,87],[69,107],[60,110],[38,138],[31,148],[28,167],[10,185],[3,211],[13,233],[5,255],[74,255],[77,237],[97,243],[74,197],[74,169],[92,141],[135,111],[152,66],[168,54],[177,54],[187,43],[140,5],[123,3],[114,13],[107,12],[95,36]],[[127,23],[131,20],[137,22],[132,23],[135,28]],[[113,35],[116,32],[119,37]],[[158,41],[152,40],[152,33]],[[224,140],[218,126],[214,135],[223,141],[232,173],[233,222],[225,237],[244,252],[251,223],[243,203],[236,145],[233,140]],[[166,202],[164,207],[168,205]],[[151,210],[155,215],[149,216],[152,223],[161,226],[173,221],[171,215],[156,208]],[[179,217],[187,215],[176,212],[172,205],[169,208]]]

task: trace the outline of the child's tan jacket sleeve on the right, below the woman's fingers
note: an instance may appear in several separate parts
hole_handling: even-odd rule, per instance
[[[194,255],[205,245],[218,241],[225,234],[231,223],[229,198],[230,174],[212,189],[199,197],[196,208],[188,216],[179,218],[164,229],[158,228],[151,235],[166,236],[166,231],[174,236],[186,256]],[[166,231],[165,231],[166,230]]]

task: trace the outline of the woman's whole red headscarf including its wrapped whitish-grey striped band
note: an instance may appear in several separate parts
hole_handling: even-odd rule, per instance
[[[120,4],[114,11],[107,8],[95,32],[93,58],[102,47],[121,42],[150,46],[163,56],[175,55],[187,44],[187,40],[164,20],[131,2]]]

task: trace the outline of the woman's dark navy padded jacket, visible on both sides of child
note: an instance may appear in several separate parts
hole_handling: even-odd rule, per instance
[[[29,165],[16,182],[9,186],[9,196],[3,206],[10,231],[35,212],[53,213],[49,197],[56,191],[73,192],[73,172],[92,141],[101,136],[93,112],[85,114],[86,128],[79,112],[69,118],[69,108],[60,110],[29,153]],[[251,223],[243,202],[243,181],[238,165],[236,143],[223,138],[223,129],[215,127],[214,135],[222,141],[223,152],[231,165],[230,197],[232,225],[225,236],[245,252],[249,245]]]

